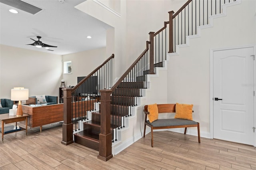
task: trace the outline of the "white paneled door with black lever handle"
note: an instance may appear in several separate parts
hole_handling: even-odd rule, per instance
[[[214,51],[214,138],[254,143],[253,47]]]

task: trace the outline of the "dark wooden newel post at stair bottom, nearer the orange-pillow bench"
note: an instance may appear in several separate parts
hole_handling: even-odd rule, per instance
[[[100,90],[100,134],[98,158],[104,161],[113,157],[112,134],[110,130],[110,95],[112,90]]]

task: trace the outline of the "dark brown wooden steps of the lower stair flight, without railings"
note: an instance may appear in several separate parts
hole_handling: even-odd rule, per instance
[[[142,79],[140,76],[137,79]],[[144,78],[145,79],[145,78]],[[122,82],[112,93],[110,105],[110,129],[112,142],[117,141],[116,130],[124,128],[124,117],[132,116],[129,109],[137,105],[140,89],[144,89],[142,82]],[[100,108],[100,107],[99,107]],[[99,150],[100,110],[91,112],[91,120],[83,122],[83,131],[74,133],[74,142]]]

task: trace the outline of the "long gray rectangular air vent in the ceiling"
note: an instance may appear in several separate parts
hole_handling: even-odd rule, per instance
[[[0,0],[0,2],[12,6],[14,8],[20,9],[22,11],[26,11],[30,14],[36,14],[42,10],[41,8],[28,4],[27,2],[24,2],[22,0]]]

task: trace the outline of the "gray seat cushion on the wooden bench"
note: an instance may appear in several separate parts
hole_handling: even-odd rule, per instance
[[[197,125],[197,122],[186,119],[158,119],[152,123],[147,121],[153,127],[180,126],[180,125]]]

